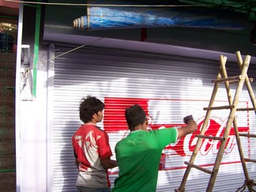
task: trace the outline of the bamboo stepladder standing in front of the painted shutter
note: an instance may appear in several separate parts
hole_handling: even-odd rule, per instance
[[[240,68],[240,75],[239,76],[235,76],[235,77],[228,77],[227,75],[227,71],[226,71],[226,62],[227,62],[227,57],[220,55],[220,70],[219,73],[217,74],[216,80],[213,80],[212,82],[215,83],[214,84],[214,88],[213,88],[213,93],[211,96],[211,100],[209,101],[209,107],[205,107],[204,110],[206,111],[206,115],[205,115],[205,121],[201,127],[201,133],[196,135],[196,137],[198,137],[198,141],[197,144],[195,146],[194,152],[192,154],[192,156],[190,157],[190,162],[185,161],[184,163],[187,165],[186,167],[186,171],[183,175],[183,180],[182,183],[179,186],[179,189],[175,189],[176,192],[184,192],[185,191],[185,185],[186,185],[186,180],[188,179],[188,176],[190,174],[190,169],[191,168],[197,168],[200,171],[204,171],[205,173],[208,173],[210,175],[210,179],[209,179],[209,183],[207,186],[207,189],[205,191],[210,192],[213,191],[213,186],[216,180],[216,175],[219,171],[220,168],[220,163],[222,160],[222,156],[224,154],[224,149],[228,140],[228,136],[230,134],[230,130],[232,128],[232,125],[234,127],[235,130],[235,139],[238,145],[238,149],[239,149],[239,156],[240,156],[240,160],[243,166],[243,172],[245,175],[245,183],[242,187],[240,187],[237,191],[239,190],[244,190],[246,187],[248,187],[249,191],[255,191],[253,189],[253,187],[255,186],[255,183],[252,179],[250,179],[249,175],[248,175],[248,171],[247,171],[247,164],[246,161],[250,161],[250,162],[254,162],[256,163],[256,160],[250,160],[250,159],[246,159],[243,156],[243,149],[241,146],[241,141],[239,137],[256,137],[256,135],[254,134],[239,134],[239,130],[237,127],[237,122],[235,119],[235,112],[236,111],[256,111],[256,104],[255,104],[255,98],[254,98],[254,92],[253,89],[250,86],[250,81],[252,81],[251,78],[248,78],[247,76],[247,70],[250,64],[250,55],[247,55],[246,58],[243,61],[243,58],[240,55],[240,52],[237,51],[235,52],[236,58],[238,59],[238,63],[239,63],[239,68]],[[219,88],[219,85],[221,82],[224,82],[225,84],[225,88],[227,90],[227,94],[228,94],[228,106],[221,106],[221,107],[213,107],[213,103],[216,97],[216,92],[217,89]],[[253,107],[251,108],[237,108],[237,105],[239,103],[239,96],[240,93],[242,92],[243,89],[243,85],[244,82],[247,85],[247,90],[249,92],[250,95],[250,100],[252,102]],[[230,92],[230,87],[229,85],[231,83],[237,83],[237,88],[235,90],[235,96],[234,96],[234,100],[232,100],[232,96],[231,96],[231,92]],[[225,127],[224,130],[224,135],[223,137],[209,137],[205,135],[205,130],[206,127],[208,126],[208,122],[209,122],[209,117],[211,114],[211,111],[213,110],[221,110],[221,109],[230,109],[230,113],[228,116],[228,122],[227,125]],[[219,140],[220,143],[220,148],[218,150],[218,153],[216,155],[216,160],[215,160],[215,164],[213,166],[213,170],[209,170],[206,168],[202,168],[196,164],[194,164],[194,160],[198,154],[198,150],[200,149],[201,146],[201,141],[202,139],[212,139],[212,140]],[[196,190],[196,189],[195,189]]]

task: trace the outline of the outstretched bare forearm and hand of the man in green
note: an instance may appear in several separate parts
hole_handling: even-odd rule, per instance
[[[186,126],[183,126],[178,130],[178,138],[184,137],[187,134],[194,133],[194,131],[198,130],[198,125],[194,121],[192,115],[186,116],[183,121],[186,123]]]

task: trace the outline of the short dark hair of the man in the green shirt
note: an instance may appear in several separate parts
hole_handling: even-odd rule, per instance
[[[145,111],[143,108],[137,104],[126,108],[126,122],[129,130],[134,130],[135,126],[142,125],[145,122]]]

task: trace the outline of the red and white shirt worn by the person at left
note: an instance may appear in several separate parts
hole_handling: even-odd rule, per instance
[[[85,123],[73,134],[72,144],[80,163],[77,186],[110,186],[107,170],[100,161],[112,156],[107,133],[93,123]]]

